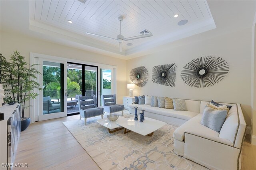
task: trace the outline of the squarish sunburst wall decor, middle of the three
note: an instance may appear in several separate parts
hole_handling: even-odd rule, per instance
[[[157,65],[153,67],[152,82],[170,87],[175,86],[176,64]]]

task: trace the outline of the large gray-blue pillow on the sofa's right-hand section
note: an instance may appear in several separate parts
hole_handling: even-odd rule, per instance
[[[204,107],[201,124],[211,128],[212,130],[215,130],[216,132],[220,132],[227,114],[227,110],[217,110],[213,107],[210,107],[210,105],[206,105],[206,107]]]

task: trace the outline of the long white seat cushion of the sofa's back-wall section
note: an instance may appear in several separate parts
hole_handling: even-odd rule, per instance
[[[168,117],[176,117],[184,120],[189,120],[198,114],[190,111],[174,111],[173,109],[164,109],[159,107],[145,107],[144,109],[146,112],[151,112]]]

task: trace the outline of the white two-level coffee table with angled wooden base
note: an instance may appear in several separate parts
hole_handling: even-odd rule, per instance
[[[97,122],[100,125],[108,128],[109,133],[113,133],[125,128],[124,133],[133,131],[143,136],[146,136],[146,135],[152,136],[154,131],[166,125],[166,123],[162,121],[158,121],[148,117],[144,117],[144,118],[145,120],[143,122],[140,122],[139,120],[134,121],[134,117],[130,117],[130,118],[119,117],[114,122],[111,122],[107,118],[105,118],[105,119],[98,120]]]

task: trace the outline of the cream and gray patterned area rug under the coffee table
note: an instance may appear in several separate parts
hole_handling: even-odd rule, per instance
[[[124,117],[132,116],[129,113],[124,114]],[[86,125],[82,119],[63,123],[102,170],[207,169],[174,154],[172,135],[177,128],[175,126],[164,125],[152,137],[135,132],[124,134],[124,129],[110,134],[106,127],[96,122],[98,119],[101,117],[87,119]]]

